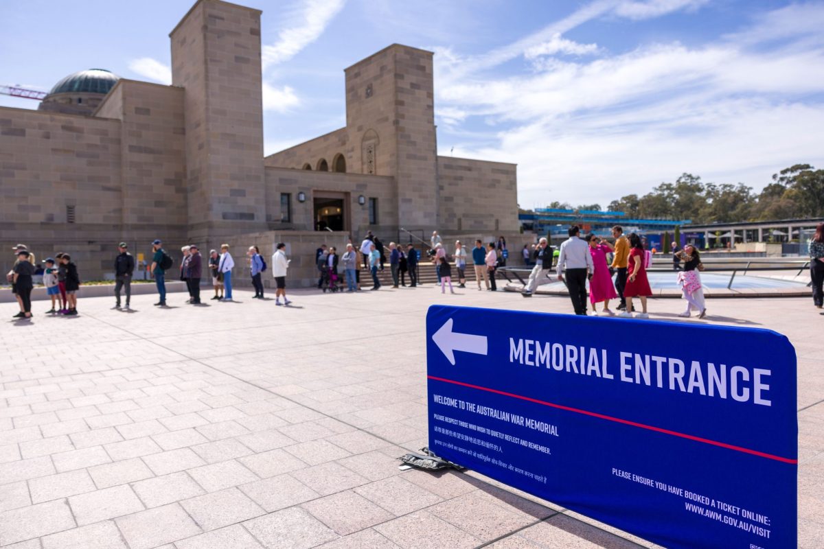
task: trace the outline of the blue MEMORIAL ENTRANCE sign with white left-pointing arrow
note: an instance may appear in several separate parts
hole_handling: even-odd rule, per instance
[[[664,547],[796,547],[781,334],[441,305],[426,326],[435,454]]]

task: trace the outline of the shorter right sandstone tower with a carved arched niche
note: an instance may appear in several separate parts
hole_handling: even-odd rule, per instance
[[[363,173],[395,176],[398,221],[437,226],[432,52],[392,44],[345,69],[346,124]]]

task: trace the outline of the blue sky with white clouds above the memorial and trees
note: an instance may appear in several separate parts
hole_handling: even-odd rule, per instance
[[[168,81],[190,0],[81,3],[0,2],[0,83],[48,90],[90,67]],[[241,3],[264,12],[267,154],[344,126],[343,68],[398,42],[435,52],[440,153],[517,163],[523,207],[824,168],[821,1]]]

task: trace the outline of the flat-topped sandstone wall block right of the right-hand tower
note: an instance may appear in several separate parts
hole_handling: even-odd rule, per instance
[[[519,230],[516,165],[438,156],[441,230]]]

